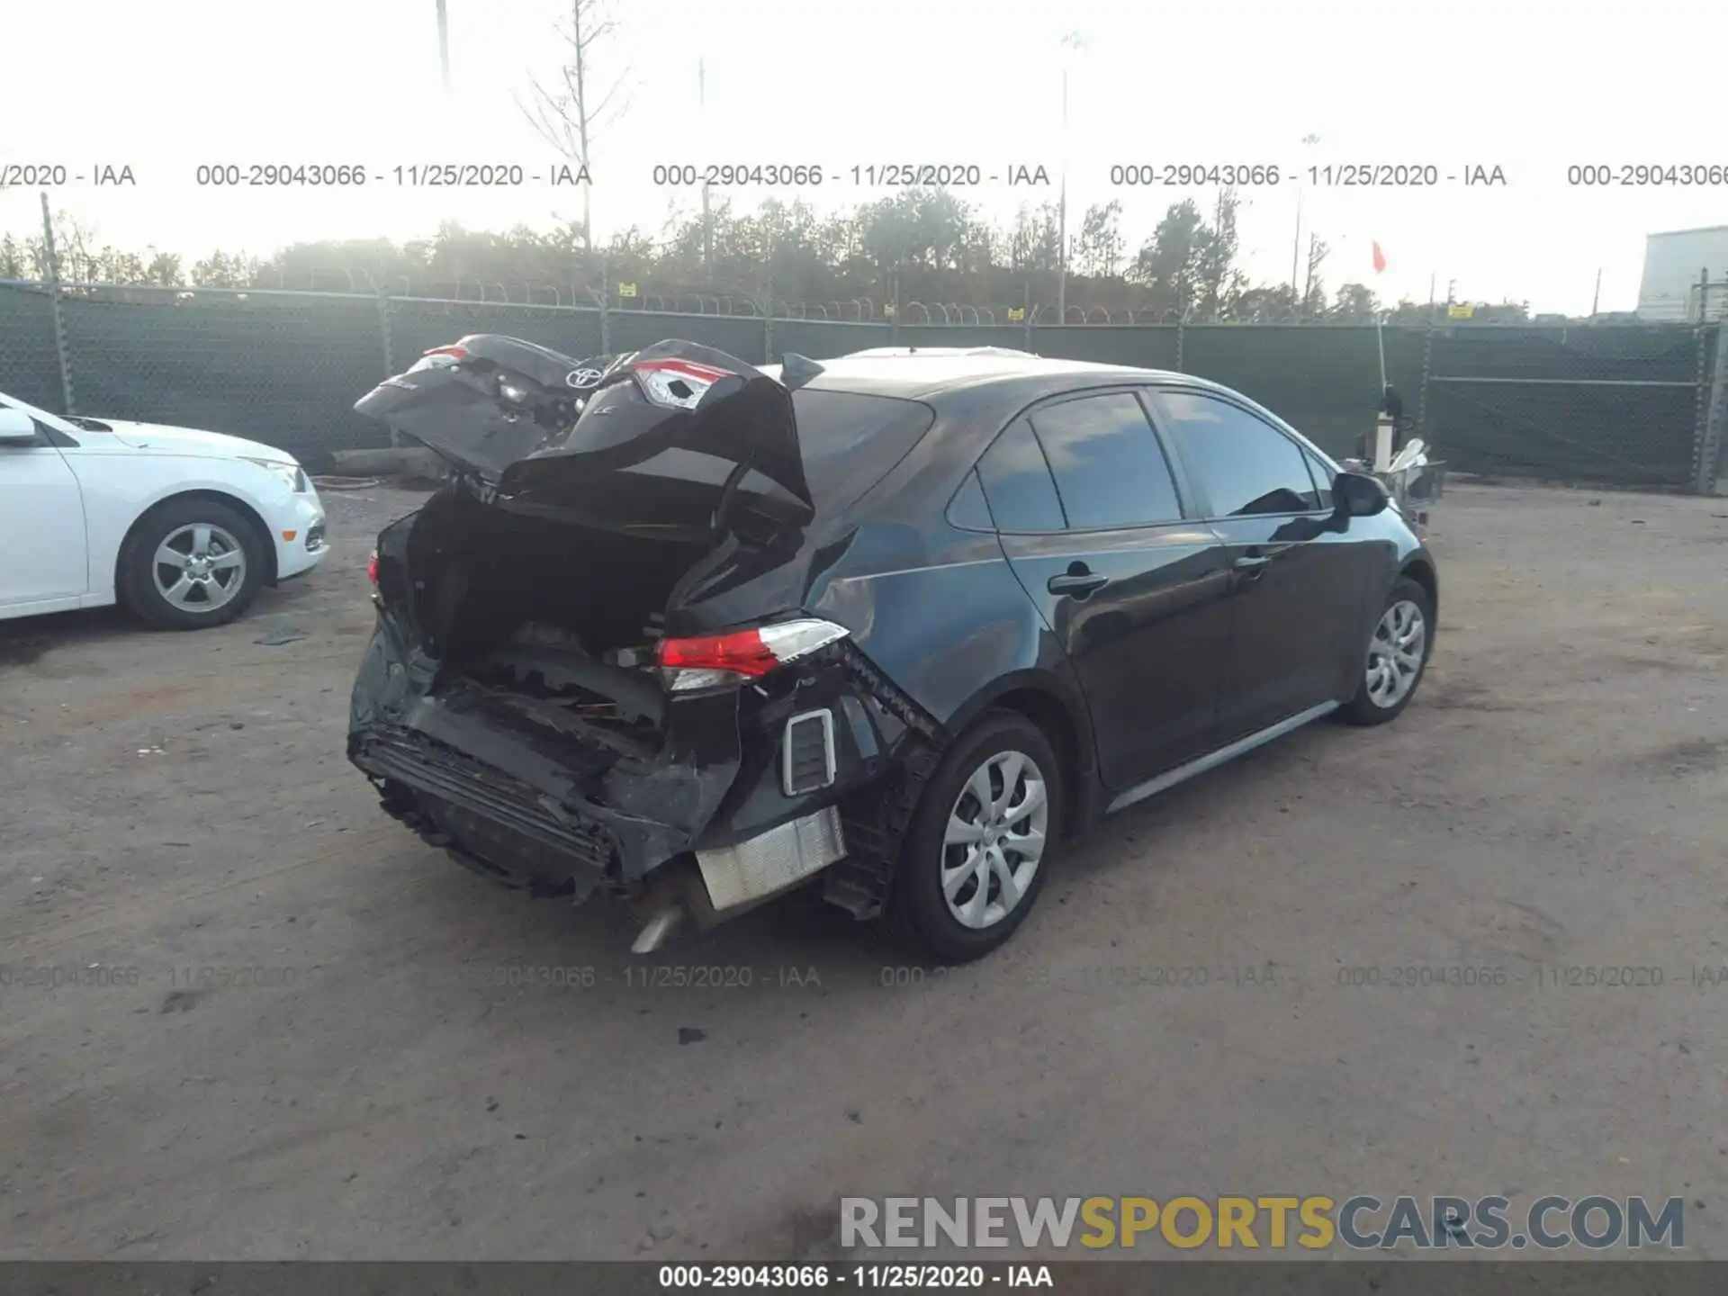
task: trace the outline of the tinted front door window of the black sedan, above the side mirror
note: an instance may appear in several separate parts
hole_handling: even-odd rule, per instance
[[[1308,513],[1320,496],[1301,446],[1263,418],[1204,392],[1158,392],[1177,453],[1215,517]]]

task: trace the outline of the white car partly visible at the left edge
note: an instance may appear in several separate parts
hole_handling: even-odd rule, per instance
[[[292,454],[0,392],[0,620],[124,603],[162,629],[221,626],[327,551]]]

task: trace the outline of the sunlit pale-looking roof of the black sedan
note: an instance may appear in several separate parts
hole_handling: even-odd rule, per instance
[[[1192,373],[1102,365],[1087,359],[1056,359],[1004,347],[878,347],[816,363],[823,366],[823,372],[804,384],[812,391],[897,396],[909,401],[924,401],[1014,380],[1040,387],[1059,387],[1064,378],[1215,385]],[[762,372],[779,378],[781,366],[764,365]]]

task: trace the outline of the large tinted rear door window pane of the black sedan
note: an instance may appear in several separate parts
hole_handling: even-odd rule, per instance
[[[1165,451],[1130,392],[1040,406],[1032,411],[1032,427],[1075,530],[1182,518]]]

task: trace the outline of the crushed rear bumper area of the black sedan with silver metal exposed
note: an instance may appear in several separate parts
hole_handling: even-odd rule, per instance
[[[382,612],[349,760],[391,816],[505,886],[607,890],[705,926],[840,864],[824,895],[857,918],[880,911],[897,843],[871,807],[905,717],[923,717],[861,657],[800,662],[767,695],[679,700],[653,750],[522,702],[442,681]]]

